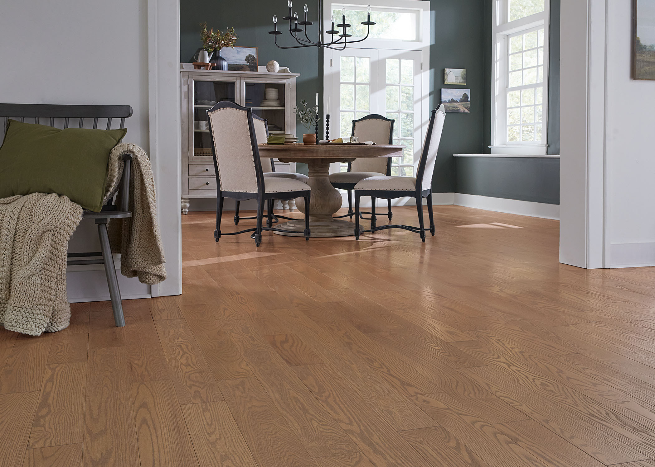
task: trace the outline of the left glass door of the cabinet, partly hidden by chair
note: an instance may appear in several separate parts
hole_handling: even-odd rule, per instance
[[[193,158],[211,160],[207,111],[220,101],[236,102],[236,82],[194,80],[193,84]]]

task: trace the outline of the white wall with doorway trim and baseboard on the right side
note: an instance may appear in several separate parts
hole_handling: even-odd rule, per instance
[[[631,77],[631,0],[562,2],[560,260],[655,265],[655,82]]]

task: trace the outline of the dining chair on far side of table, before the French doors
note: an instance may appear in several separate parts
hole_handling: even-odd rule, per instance
[[[379,114],[370,114],[359,120],[352,120],[352,136],[358,137],[362,143],[364,141],[373,141],[377,145],[390,145],[394,139],[394,122],[395,120],[391,118],[385,118]],[[380,175],[391,175],[390,158],[358,158],[348,163],[347,172],[330,174],[329,181],[332,186],[339,190],[348,190],[348,214],[334,216],[334,218],[350,217],[352,219],[354,214],[354,211],[352,211],[352,190],[354,190],[355,185],[368,177]],[[363,211],[361,214],[371,213]],[[391,199],[388,200],[387,216],[389,220],[393,216]]]

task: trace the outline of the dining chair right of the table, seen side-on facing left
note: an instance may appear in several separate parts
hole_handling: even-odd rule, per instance
[[[441,132],[443,131],[443,122],[446,114],[441,104],[437,109],[432,111],[430,117],[430,126],[425,137],[421,160],[419,161],[419,170],[415,177],[394,177],[394,176],[376,176],[358,182],[355,185],[355,238],[360,239],[364,232],[377,232],[378,230],[400,228],[421,234],[421,241],[425,241],[425,228],[423,226],[423,206],[422,198],[428,201],[428,215],[430,216],[430,234],[434,235],[434,213],[432,212],[432,173],[437,159],[439,143],[441,141]],[[370,196],[373,201],[371,208],[371,229],[360,230],[360,198]],[[405,225],[386,225],[377,227],[375,225],[375,199],[385,198],[403,198],[411,197],[416,199],[416,207],[419,213],[419,227]]]

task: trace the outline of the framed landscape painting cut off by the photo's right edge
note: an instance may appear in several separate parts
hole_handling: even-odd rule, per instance
[[[635,0],[635,79],[655,80],[655,0]]]

